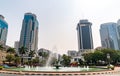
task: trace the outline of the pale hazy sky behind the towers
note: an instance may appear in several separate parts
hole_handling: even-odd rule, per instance
[[[78,51],[76,26],[79,20],[92,22],[94,48],[101,46],[100,24],[120,19],[119,0],[0,0],[0,14],[8,23],[7,45],[19,41],[24,14],[36,14],[39,21],[38,48],[67,53]]]

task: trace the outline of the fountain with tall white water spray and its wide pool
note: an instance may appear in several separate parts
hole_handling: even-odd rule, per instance
[[[54,48],[56,50],[56,47]],[[46,63],[45,67],[40,67],[40,66],[36,66],[36,67],[30,67],[30,66],[25,66],[24,68],[10,68],[9,70],[13,70],[13,71],[22,71],[22,72],[37,72],[37,73],[56,73],[59,74],[61,73],[80,73],[81,71],[101,71],[101,70],[105,70],[105,69],[101,69],[101,68],[89,68],[88,66],[85,67],[61,67],[60,65],[60,61],[59,61],[59,57],[56,52],[56,62],[54,64],[54,66],[51,66],[51,60],[52,57],[55,56],[53,53],[50,53],[48,61]]]

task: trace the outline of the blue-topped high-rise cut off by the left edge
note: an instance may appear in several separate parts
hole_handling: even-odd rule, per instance
[[[5,45],[7,39],[8,24],[4,20],[4,16],[0,15],[0,44]]]

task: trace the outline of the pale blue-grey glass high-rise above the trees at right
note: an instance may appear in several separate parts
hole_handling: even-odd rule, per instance
[[[110,22],[100,26],[101,44],[104,48],[119,50],[117,24]]]

